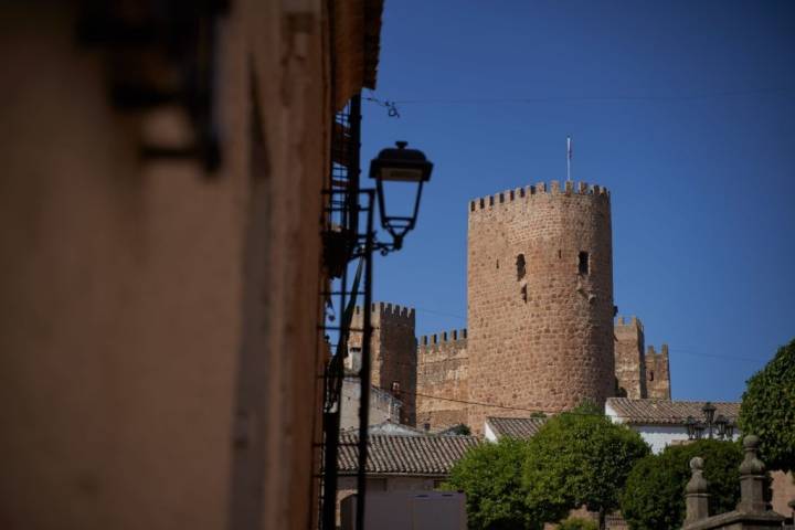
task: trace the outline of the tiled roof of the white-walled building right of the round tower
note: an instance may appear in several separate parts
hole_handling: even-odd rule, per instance
[[[706,401],[634,400],[630,398],[607,398],[607,407],[616,417],[628,424],[675,425],[681,424],[688,416],[702,421],[701,407]],[[736,422],[740,403],[712,402],[716,416],[723,415]]]

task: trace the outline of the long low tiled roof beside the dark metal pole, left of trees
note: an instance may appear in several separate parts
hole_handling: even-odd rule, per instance
[[[359,436],[340,435],[339,473],[358,468]],[[369,437],[367,470],[384,475],[444,476],[464,454],[480,443],[475,436],[402,436],[377,434]]]

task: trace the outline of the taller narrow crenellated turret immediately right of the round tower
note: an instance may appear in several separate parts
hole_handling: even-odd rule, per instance
[[[618,317],[613,333],[617,394],[632,399],[647,398],[643,322],[636,317]]]

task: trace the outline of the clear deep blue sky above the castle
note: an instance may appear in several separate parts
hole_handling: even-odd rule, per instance
[[[363,165],[435,163],[375,299],[466,325],[467,201],[539,181],[612,193],[615,301],[671,349],[675,399],[738,400],[795,337],[795,3],[386,0]],[[519,102],[517,102],[519,99]],[[523,100],[521,100],[523,99]],[[401,103],[402,102],[402,103]]]

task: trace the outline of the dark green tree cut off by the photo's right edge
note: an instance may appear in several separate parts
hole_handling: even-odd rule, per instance
[[[740,430],[760,437],[768,469],[795,470],[795,339],[748,381]]]

